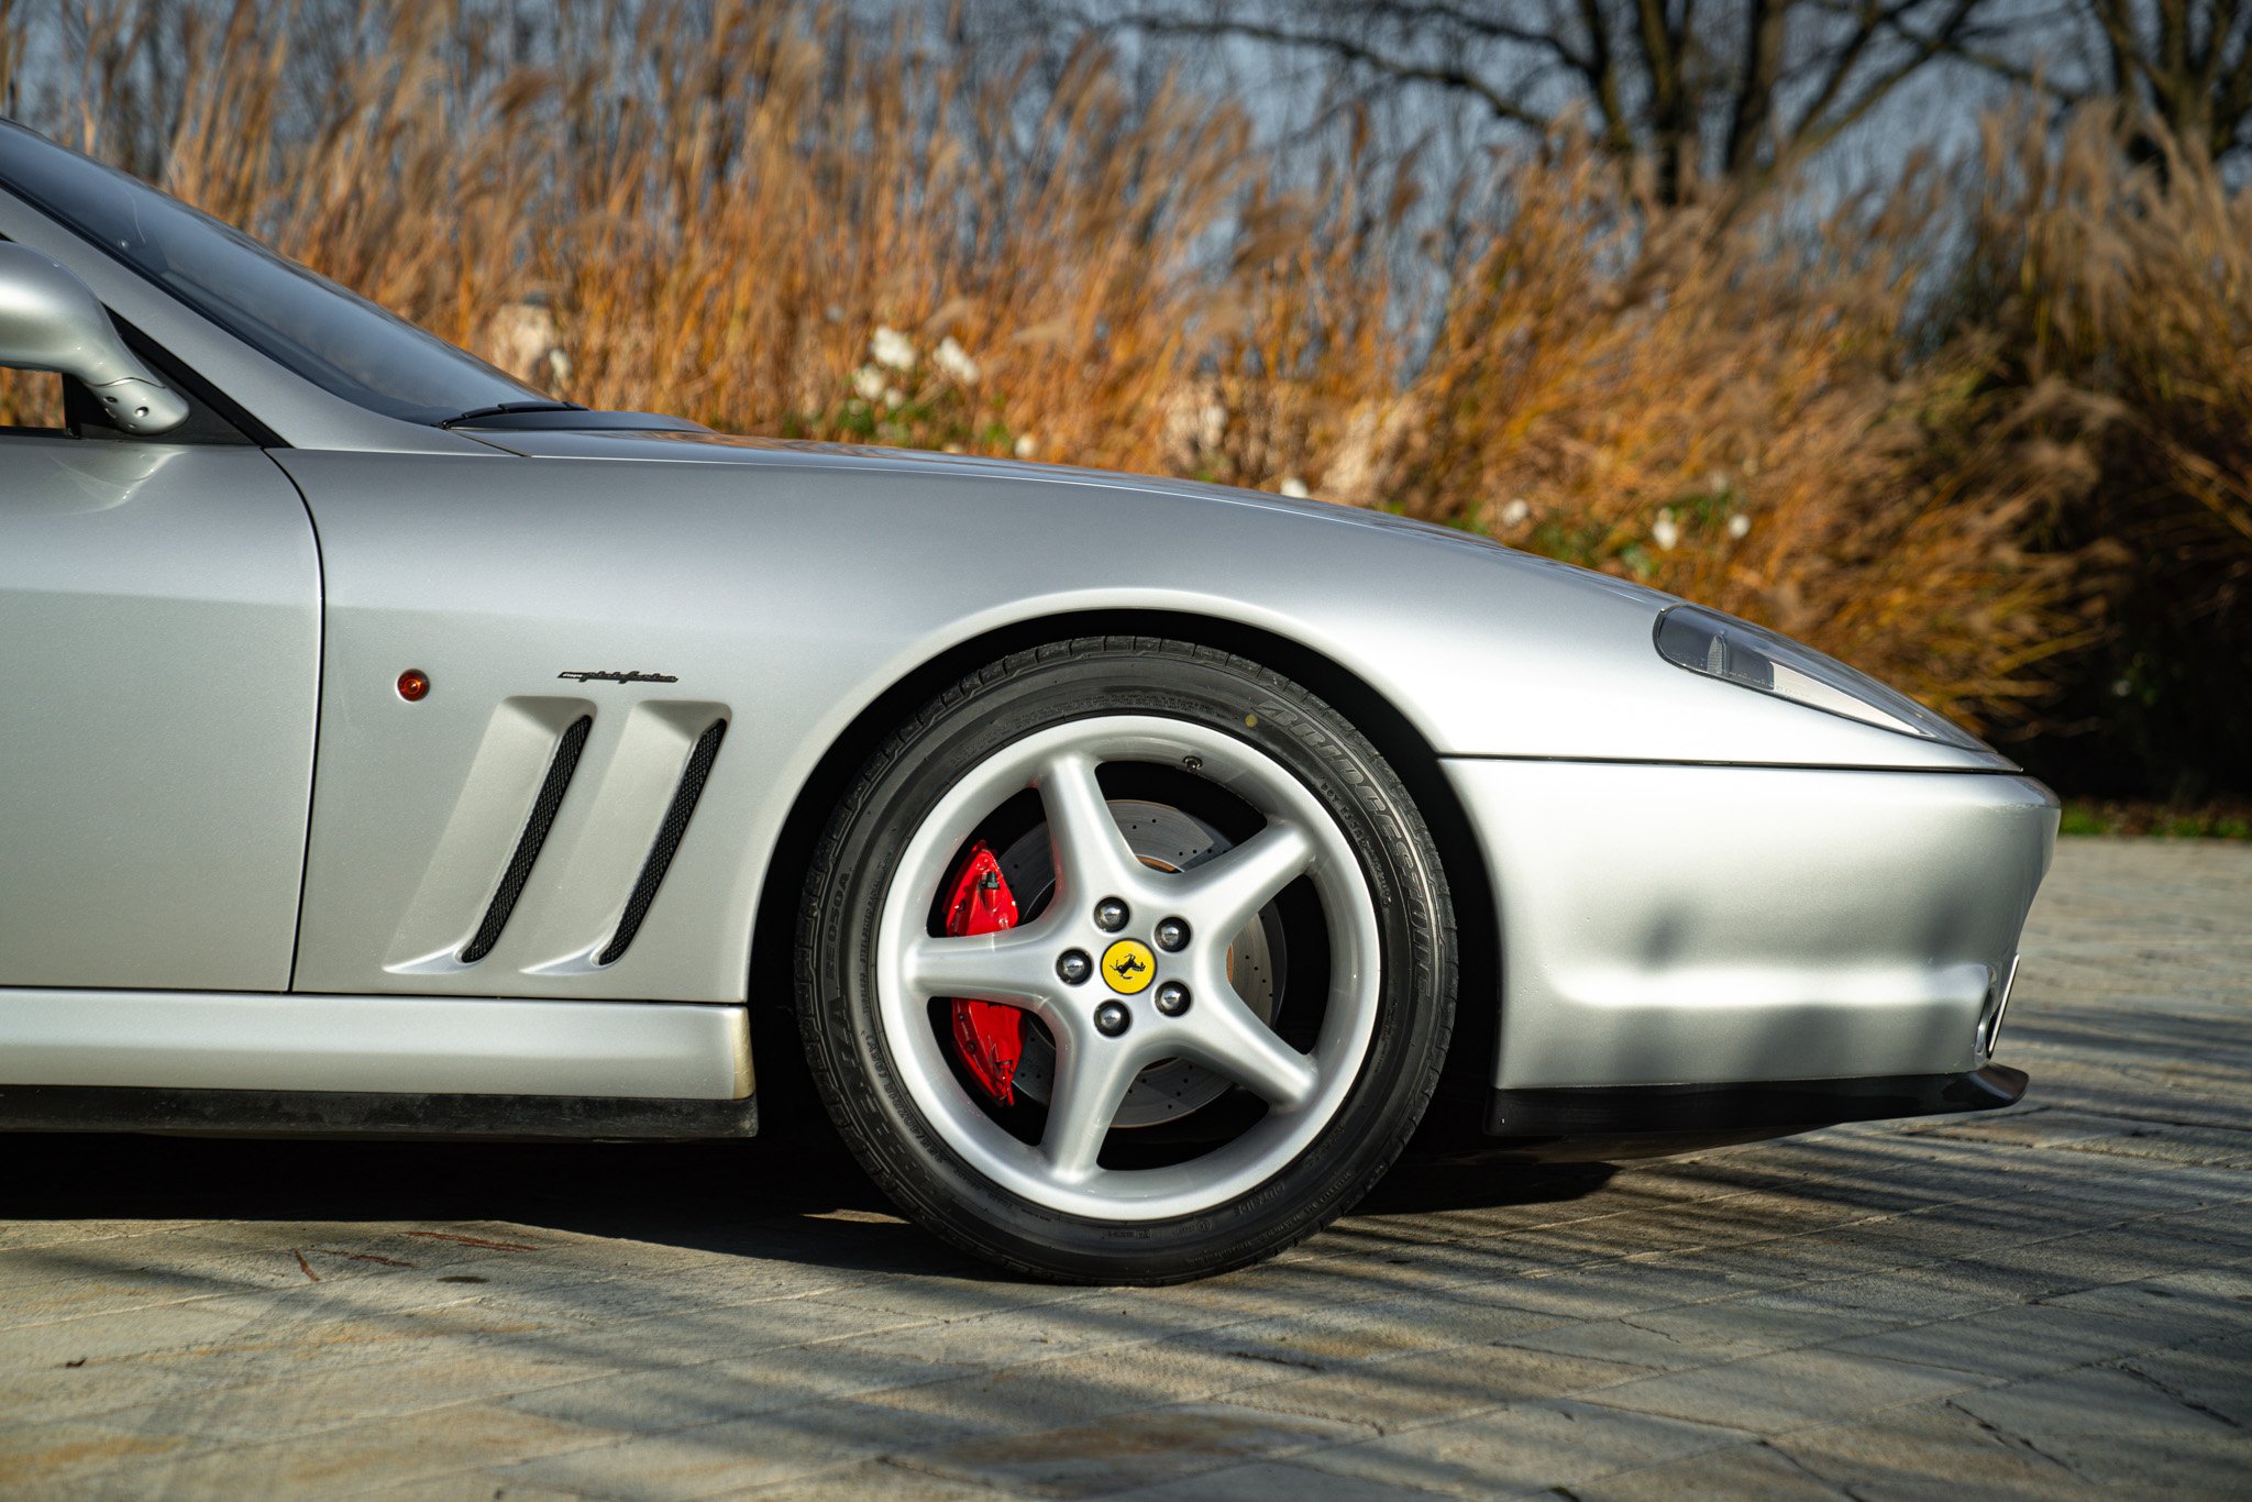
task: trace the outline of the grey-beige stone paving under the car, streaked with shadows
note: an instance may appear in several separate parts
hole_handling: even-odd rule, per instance
[[[1266,1268],[1009,1284],[806,1142],[11,1139],[0,1493],[2252,1491],[2252,847],[2067,842],[2027,1106],[1428,1160]]]

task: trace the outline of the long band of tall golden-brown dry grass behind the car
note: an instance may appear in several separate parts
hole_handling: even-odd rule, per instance
[[[2119,554],[2054,525],[2117,466],[2092,435],[2137,423],[2144,480],[2247,527],[2245,209],[2198,189],[2162,218],[2117,153],[2027,133],[1991,164],[1973,263],[2054,290],[1937,340],[1912,288],[1955,180],[1804,232],[1657,209],[1570,137],[1507,169],[1417,306],[1412,169],[1356,149],[1286,178],[1239,110],[1137,101],[1101,52],[1031,90],[788,0],[570,14],[529,65],[455,0],[329,32],[284,0],[122,0],[34,124],[590,405],[1299,480],[1772,622],[1984,723],[2036,718],[2101,626]],[[878,329],[912,367],[872,358]]]

